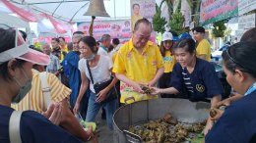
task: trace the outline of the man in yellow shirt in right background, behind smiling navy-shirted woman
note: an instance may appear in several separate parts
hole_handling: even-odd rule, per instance
[[[211,61],[211,45],[207,39],[205,39],[205,28],[203,26],[197,26],[192,29],[194,39],[197,41],[197,57],[208,62]]]

